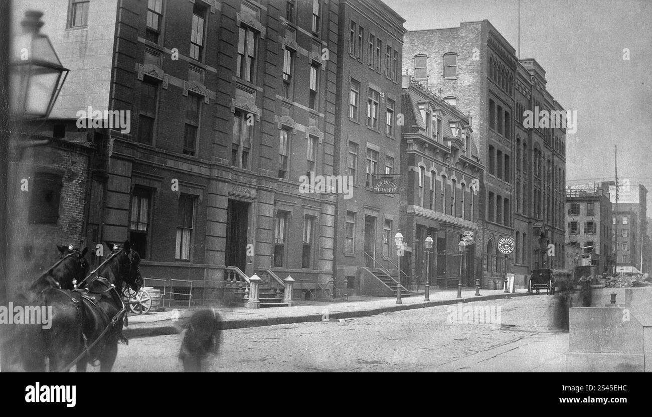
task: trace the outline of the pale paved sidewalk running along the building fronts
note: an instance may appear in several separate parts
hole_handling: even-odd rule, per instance
[[[273,326],[275,324],[290,324],[297,322],[318,322],[328,317],[329,320],[339,320],[351,317],[364,317],[385,313],[387,311],[402,311],[449,305],[459,302],[469,303],[482,300],[496,300],[505,297],[527,296],[527,290],[519,289],[511,294],[503,290],[481,290],[481,296],[475,296],[475,289],[463,289],[462,299],[457,298],[457,290],[441,290],[434,288],[430,293],[430,301],[424,301],[424,296],[404,297],[402,304],[396,304],[396,298],[357,297],[344,302],[297,301],[292,307],[273,307],[265,309],[246,309],[243,307],[215,306],[223,319],[224,329],[238,329],[257,326]],[[542,292],[541,294],[545,294]],[[142,337],[154,335],[175,334],[183,330],[186,321],[195,310],[166,309],[145,315],[129,315],[128,327],[123,330],[126,337]]]

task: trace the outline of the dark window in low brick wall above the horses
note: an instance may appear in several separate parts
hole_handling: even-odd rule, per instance
[[[63,177],[56,174],[36,174],[29,186],[29,223],[57,224]]]

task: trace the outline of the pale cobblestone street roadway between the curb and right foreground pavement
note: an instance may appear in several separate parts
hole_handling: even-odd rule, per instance
[[[449,305],[344,322],[226,330],[211,371],[437,371],[454,360],[552,332],[552,300],[542,295],[464,304],[499,307],[501,325],[451,324],[458,306]],[[181,339],[181,334],[131,339],[120,345],[113,370],[181,371]]]

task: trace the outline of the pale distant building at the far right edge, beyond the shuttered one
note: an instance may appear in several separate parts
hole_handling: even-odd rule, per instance
[[[612,202],[617,271],[641,271],[646,257],[644,245],[647,241],[647,189],[642,184],[623,181],[618,187],[617,211],[615,181],[602,182],[602,189],[609,192]]]

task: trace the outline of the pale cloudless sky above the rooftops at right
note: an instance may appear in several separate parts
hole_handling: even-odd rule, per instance
[[[383,1],[409,31],[486,19],[518,50],[518,0]],[[521,0],[520,8],[520,57],[535,58],[548,91],[577,110],[567,181],[613,180],[617,146],[618,178],[644,184],[652,207],[652,1]]]

